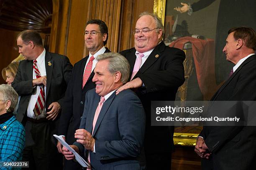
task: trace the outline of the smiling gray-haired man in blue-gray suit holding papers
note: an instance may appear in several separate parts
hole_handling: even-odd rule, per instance
[[[143,106],[132,90],[115,95],[129,78],[129,63],[114,52],[97,60],[92,79],[96,89],[86,94],[80,128],[74,134],[77,142],[71,147],[88,156],[91,169],[139,170],[145,131]],[[63,150],[67,159],[74,158],[67,148]]]

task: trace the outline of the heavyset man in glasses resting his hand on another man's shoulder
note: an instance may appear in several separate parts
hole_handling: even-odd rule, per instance
[[[147,169],[170,169],[174,150],[174,127],[151,126],[151,101],[175,100],[176,92],[184,82],[185,53],[168,47],[161,41],[164,26],[153,14],[142,13],[134,31],[135,48],[120,52],[130,63],[130,82],[118,92],[132,88],[141,99],[146,112],[145,153]],[[139,70],[135,65],[141,57]]]

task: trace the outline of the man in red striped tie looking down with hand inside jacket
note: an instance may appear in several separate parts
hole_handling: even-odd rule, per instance
[[[35,30],[20,32],[17,45],[25,57],[12,83],[21,96],[16,117],[26,130],[23,160],[33,170],[61,169],[61,155],[52,135],[58,127],[72,65],[66,56],[47,52]]]

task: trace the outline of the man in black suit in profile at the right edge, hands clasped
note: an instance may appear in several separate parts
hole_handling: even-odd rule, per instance
[[[212,101],[256,100],[256,32],[252,28],[228,31],[223,52],[235,64],[230,77]],[[220,108],[221,109],[221,108]],[[234,115],[241,111],[236,110]],[[203,170],[252,170],[256,162],[255,126],[204,126],[195,152],[202,158]]]

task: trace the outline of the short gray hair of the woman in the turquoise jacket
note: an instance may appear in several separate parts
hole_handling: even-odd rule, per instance
[[[10,100],[10,111],[13,111],[18,103],[18,93],[10,85],[0,85],[0,100]]]

